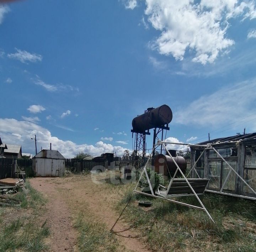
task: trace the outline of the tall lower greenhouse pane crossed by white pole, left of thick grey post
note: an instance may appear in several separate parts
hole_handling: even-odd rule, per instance
[[[236,171],[236,161],[235,160],[229,160],[227,161],[229,163],[229,165],[234,168],[234,170]],[[222,185],[225,182],[226,177],[229,174],[229,171],[231,169],[229,168],[229,166],[223,162],[222,164]],[[224,190],[230,190],[230,191],[235,191],[235,179],[236,179],[236,174],[233,170],[231,170],[228,180],[226,181],[225,185],[224,185]]]

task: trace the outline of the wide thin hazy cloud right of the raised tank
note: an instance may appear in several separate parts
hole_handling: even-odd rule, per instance
[[[218,128],[237,121],[244,126],[246,120],[253,119],[247,118],[249,115],[256,115],[255,93],[256,78],[223,87],[178,109],[174,113],[173,121],[184,125]],[[250,126],[250,130],[256,130],[255,119],[246,125]],[[234,128],[238,125],[232,126]]]

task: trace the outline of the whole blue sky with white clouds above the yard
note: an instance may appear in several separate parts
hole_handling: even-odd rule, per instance
[[[167,104],[169,139],[256,131],[255,1],[23,0],[0,6],[0,137],[34,153],[132,149]],[[152,144],[147,139],[147,147]]]

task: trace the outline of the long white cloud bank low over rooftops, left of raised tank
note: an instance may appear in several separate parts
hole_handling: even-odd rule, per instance
[[[12,135],[16,134],[16,135]],[[18,135],[21,136],[18,139]],[[97,142],[95,145],[90,144],[76,144],[72,141],[63,141],[58,137],[52,136],[50,131],[44,127],[28,121],[18,121],[16,119],[0,118],[0,135],[4,142],[12,144],[27,143],[37,136],[38,149],[42,146],[43,149],[49,149],[49,143],[52,143],[52,149],[59,150],[65,158],[73,158],[79,152],[90,153],[93,156],[100,156],[102,153],[113,153],[123,155],[124,148],[121,146],[113,146],[106,144],[102,141]],[[22,146],[23,152],[34,153],[34,143]]]

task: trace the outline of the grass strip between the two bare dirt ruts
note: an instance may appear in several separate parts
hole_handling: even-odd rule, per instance
[[[79,213],[75,228],[79,231],[78,247],[80,252],[120,251],[116,236],[106,225]]]

